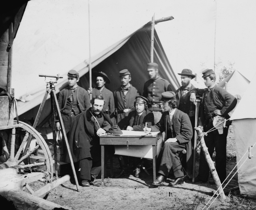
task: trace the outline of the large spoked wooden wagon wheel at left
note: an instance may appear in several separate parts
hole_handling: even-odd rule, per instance
[[[9,126],[11,127],[11,126]],[[43,139],[43,137],[40,135],[40,133],[38,131],[36,131],[32,126],[19,121],[19,124],[17,124],[17,121],[14,121],[14,125],[11,127],[12,128],[12,132],[11,132],[11,149],[10,149],[10,154],[9,154],[9,159],[7,159],[7,161],[3,164],[0,164],[0,169],[5,169],[5,168],[17,168],[19,170],[19,173],[25,173],[25,174],[31,174],[32,172],[43,172],[45,175],[44,177],[42,177],[41,179],[39,179],[39,181],[43,181],[44,183],[52,183],[53,180],[53,161],[52,161],[52,155],[50,153],[50,150],[45,142],[45,140]],[[26,133],[24,135],[24,138],[19,146],[19,149],[17,149],[17,153],[15,154],[15,134],[16,129],[15,128],[22,128]],[[2,127],[0,127],[0,130],[2,130]],[[23,155],[22,157],[22,149],[24,148],[27,140],[28,140],[28,136],[29,134],[31,134],[35,139],[36,139],[36,143],[37,146],[35,146],[35,148],[33,148],[31,151],[28,151],[26,154]],[[31,157],[32,153],[34,153],[37,149],[41,148],[41,150],[43,151],[44,157],[42,157],[42,159],[45,159],[44,162],[42,163],[26,163],[26,160],[28,157]],[[39,169],[42,168],[43,166],[43,170]],[[34,181],[37,181],[38,179],[30,179],[28,180],[28,183],[32,183]],[[24,186],[20,186],[21,188],[23,187],[23,190],[25,190],[25,188],[31,193],[33,194],[34,191],[33,189],[28,185],[28,183],[26,183]],[[40,197],[43,197],[46,199],[48,193],[44,194]]]

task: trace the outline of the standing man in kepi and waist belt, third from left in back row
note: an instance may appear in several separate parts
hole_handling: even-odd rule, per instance
[[[136,88],[130,84],[131,73],[128,69],[123,69],[119,72],[121,80],[121,87],[115,90],[115,117],[118,126],[123,129],[125,126],[125,118],[128,116],[130,111],[135,110],[134,99],[139,92]]]

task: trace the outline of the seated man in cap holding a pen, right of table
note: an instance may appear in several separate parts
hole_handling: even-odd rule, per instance
[[[188,115],[176,108],[176,94],[173,91],[162,93],[161,101],[165,112],[160,121],[154,126],[143,129],[148,132],[165,131],[166,133],[165,143],[158,157],[159,175],[152,185],[158,186],[163,183],[173,168],[175,180],[170,185],[175,186],[184,183],[179,153],[186,150],[186,145],[193,136],[193,130]]]

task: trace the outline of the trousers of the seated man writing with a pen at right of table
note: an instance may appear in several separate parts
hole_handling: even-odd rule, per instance
[[[165,143],[158,155],[158,173],[167,177],[170,170],[173,168],[175,178],[184,176],[179,153],[185,148],[186,144],[179,144],[178,142]]]

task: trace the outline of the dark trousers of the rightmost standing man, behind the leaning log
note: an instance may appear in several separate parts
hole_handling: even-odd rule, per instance
[[[211,126],[212,128],[213,126]],[[228,126],[229,127],[229,126]],[[208,152],[212,157],[212,154],[216,152],[215,163],[216,170],[219,175],[219,179],[223,182],[226,179],[226,144],[227,144],[228,128],[224,128],[223,134],[219,134],[218,130],[210,131],[207,136],[204,136],[205,144],[208,148]],[[204,157],[204,152],[201,148],[200,163],[198,178],[202,181],[208,181],[209,178],[209,166]]]

